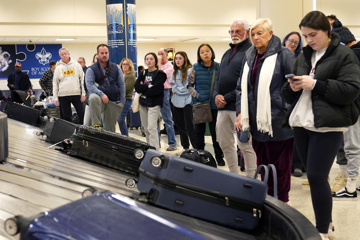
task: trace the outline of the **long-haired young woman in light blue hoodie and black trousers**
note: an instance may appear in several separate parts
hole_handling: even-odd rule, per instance
[[[191,95],[186,89],[191,67],[192,64],[185,52],[180,51],[175,54],[174,71],[170,79],[173,92],[171,102],[174,105],[174,121],[179,129],[181,146],[184,150],[188,150],[190,147],[189,138],[192,146],[196,144],[193,107],[190,104]],[[176,155],[181,155],[181,152]]]

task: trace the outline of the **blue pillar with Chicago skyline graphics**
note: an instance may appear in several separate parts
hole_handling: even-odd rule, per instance
[[[110,62],[120,64],[129,58],[137,71],[135,0],[106,0],[106,17]]]

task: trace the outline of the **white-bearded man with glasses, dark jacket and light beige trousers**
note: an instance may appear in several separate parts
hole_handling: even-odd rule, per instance
[[[230,49],[221,58],[219,75],[215,82],[213,95],[218,110],[216,120],[217,141],[224,152],[229,171],[239,173],[234,138],[234,123],[237,118],[235,88],[240,77],[245,52],[252,46],[248,40],[249,23],[242,18],[234,20],[229,34],[231,35]],[[252,149],[251,139],[247,143],[237,142],[244,154],[246,175],[253,177],[256,171],[256,155]]]

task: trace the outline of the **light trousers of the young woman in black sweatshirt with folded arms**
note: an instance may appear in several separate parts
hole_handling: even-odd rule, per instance
[[[146,142],[159,150],[159,132],[157,121],[160,114],[160,105],[153,108],[144,108],[139,105],[141,124],[144,126]]]

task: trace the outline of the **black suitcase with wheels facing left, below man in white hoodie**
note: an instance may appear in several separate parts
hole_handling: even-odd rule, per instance
[[[42,139],[48,142],[62,142],[64,139],[68,139],[75,131],[76,124],[63,119],[44,116],[44,120],[47,120],[44,132],[37,132],[36,135],[42,135]]]

